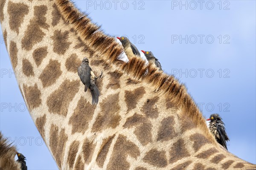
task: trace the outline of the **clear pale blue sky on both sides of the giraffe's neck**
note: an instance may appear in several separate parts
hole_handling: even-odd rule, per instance
[[[166,73],[186,84],[204,116],[222,116],[228,150],[256,163],[256,1],[74,2],[107,34],[126,35],[139,50],[152,51]],[[25,108],[2,40],[0,61],[0,130],[29,169],[58,169]]]

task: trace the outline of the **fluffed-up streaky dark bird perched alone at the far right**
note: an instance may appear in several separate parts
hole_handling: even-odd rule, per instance
[[[221,116],[217,113],[211,114],[210,118],[209,129],[212,134],[215,136],[216,141],[221,144],[224,148],[227,149],[226,141],[230,139],[227,136],[226,129],[224,127],[224,123],[222,122]]]

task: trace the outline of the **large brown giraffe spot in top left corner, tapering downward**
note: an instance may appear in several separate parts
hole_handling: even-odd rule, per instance
[[[19,34],[19,27],[23,23],[24,16],[29,13],[29,6],[25,5],[25,3],[12,3],[9,1],[7,12],[11,30]]]

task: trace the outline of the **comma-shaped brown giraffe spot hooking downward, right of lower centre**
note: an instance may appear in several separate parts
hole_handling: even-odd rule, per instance
[[[130,128],[136,126],[134,134],[141,144],[146,145],[152,142],[152,124],[143,116],[135,113],[133,116],[128,117],[123,127]]]

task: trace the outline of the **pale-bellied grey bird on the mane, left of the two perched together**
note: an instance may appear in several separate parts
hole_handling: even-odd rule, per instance
[[[116,37],[122,43],[125,54],[129,57],[134,55],[140,56],[139,50],[133,45],[130,40],[126,37]]]

